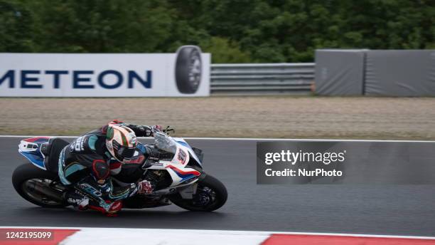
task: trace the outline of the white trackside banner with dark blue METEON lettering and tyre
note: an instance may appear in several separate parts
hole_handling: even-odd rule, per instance
[[[0,96],[210,95],[210,53],[0,53]]]

